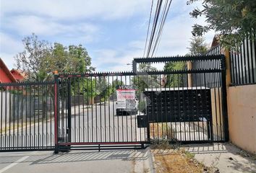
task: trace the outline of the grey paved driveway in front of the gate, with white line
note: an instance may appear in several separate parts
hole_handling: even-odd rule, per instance
[[[52,151],[0,153],[0,173],[151,172],[148,148],[118,151]]]

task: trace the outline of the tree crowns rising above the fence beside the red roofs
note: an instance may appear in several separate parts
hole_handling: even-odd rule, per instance
[[[61,43],[52,46],[45,40],[38,40],[33,34],[22,40],[24,50],[18,53],[16,58],[17,68],[26,71],[29,79],[41,81],[52,79],[53,71],[60,73],[85,73],[94,71],[91,66],[91,58],[82,45],[69,45],[65,47]]]

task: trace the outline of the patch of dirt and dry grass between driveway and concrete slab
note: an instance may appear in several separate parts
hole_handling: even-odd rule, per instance
[[[194,155],[182,149],[153,149],[156,173],[200,173],[218,172],[218,169],[205,167],[194,159]]]

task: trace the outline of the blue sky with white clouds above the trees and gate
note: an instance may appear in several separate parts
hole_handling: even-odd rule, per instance
[[[205,24],[205,18],[189,16],[200,2],[186,3],[171,2],[155,56],[189,52],[192,25]],[[24,50],[22,38],[35,33],[49,43],[82,44],[96,71],[129,71],[127,63],[143,55],[150,6],[150,0],[1,0],[0,57],[8,68],[15,68],[14,56]],[[206,33],[206,43],[213,36]]]

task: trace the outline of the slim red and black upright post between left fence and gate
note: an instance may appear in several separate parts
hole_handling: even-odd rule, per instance
[[[58,129],[58,114],[59,114],[59,93],[58,93],[58,85],[59,85],[59,75],[58,71],[54,71],[54,141],[55,141],[55,148],[54,153],[59,153],[59,145],[58,145],[58,136],[59,136],[59,129]]]

